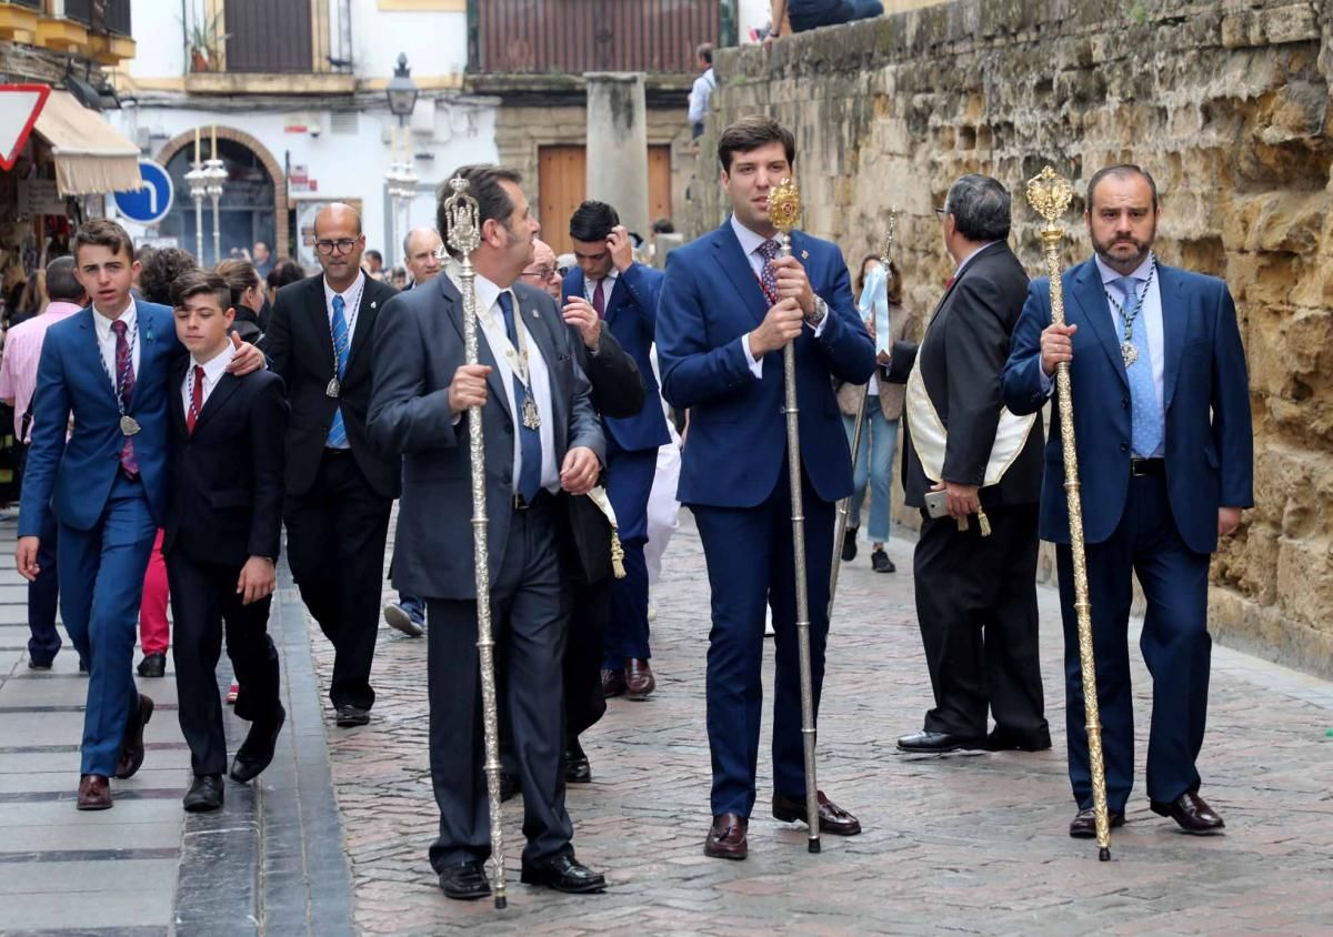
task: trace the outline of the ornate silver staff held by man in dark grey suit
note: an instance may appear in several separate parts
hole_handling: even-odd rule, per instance
[[[463,293],[463,345],[469,365],[477,364],[477,289],[472,252],[481,244],[477,200],[468,195],[468,180],[449,180],[453,195],[444,203],[449,247],[461,260],[459,288]],[[477,589],[477,664],[481,669],[481,728],[485,740],[487,801],[491,817],[491,888],[496,908],[504,908],[504,832],[500,816],[500,713],[496,708],[495,637],[491,630],[491,553],[487,548],[485,444],[481,408],[468,408],[468,460],[472,469],[472,552]]]

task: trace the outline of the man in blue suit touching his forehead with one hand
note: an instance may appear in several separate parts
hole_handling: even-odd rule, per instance
[[[629,232],[616,209],[604,201],[585,201],[569,219],[569,239],[579,269],[565,277],[565,317],[575,316],[596,328],[604,324],[616,336],[639,373],[647,400],[659,396],[649,360],[663,275],[635,263]],[[620,542],[625,549],[625,577],[611,586],[601,684],[607,696],[625,693],[643,700],[656,681],[648,658],[648,494],[657,470],[657,449],[670,441],[663,408],[648,405],[627,419],[603,417],[607,428],[607,494],[616,509]]]

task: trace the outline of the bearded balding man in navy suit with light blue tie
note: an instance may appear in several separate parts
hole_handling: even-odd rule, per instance
[[[1134,722],[1126,629],[1137,573],[1148,600],[1140,648],[1153,674],[1148,797],[1186,833],[1216,833],[1221,817],[1198,794],[1212,638],[1208,565],[1220,536],[1253,506],[1254,441],[1245,349],[1226,284],[1152,253],[1157,185],[1113,165],[1088,184],[1096,256],[1064,273],[1066,325],[1050,324],[1048,280],[1033,280],[1004,375],[1005,404],[1032,413],[1056,367],[1070,381],[1082,485],[1106,801],[1125,821]],[[1074,360],[1077,359],[1077,360]],[[1046,444],[1041,538],[1056,544],[1065,626],[1073,837],[1096,834],[1069,553],[1058,415]]]

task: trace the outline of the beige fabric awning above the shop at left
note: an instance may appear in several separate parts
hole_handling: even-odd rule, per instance
[[[52,91],[33,129],[51,144],[61,196],[137,189],[139,147],[68,91]]]

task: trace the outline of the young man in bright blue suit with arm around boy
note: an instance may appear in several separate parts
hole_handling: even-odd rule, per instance
[[[187,352],[169,308],[131,297],[139,264],[124,228],[88,221],[71,247],[92,303],[52,327],[41,347],[15,560],[36,578],[40,532],[53,513],[60,612],[89,668],[77,808],[104,810],[108,778],[143,764],[153,712],[131,665],[144,570],[167,521],[168,400],[180,387],[172,375]],[[263,365],[252,345],[233,341],[228,371]]]

